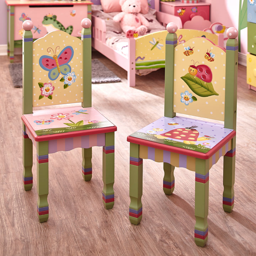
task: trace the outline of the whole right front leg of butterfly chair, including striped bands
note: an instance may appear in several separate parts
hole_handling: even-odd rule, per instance
[[[102,152],[102,200],[106,209],[114,206],[114,132],[105,134]]]

